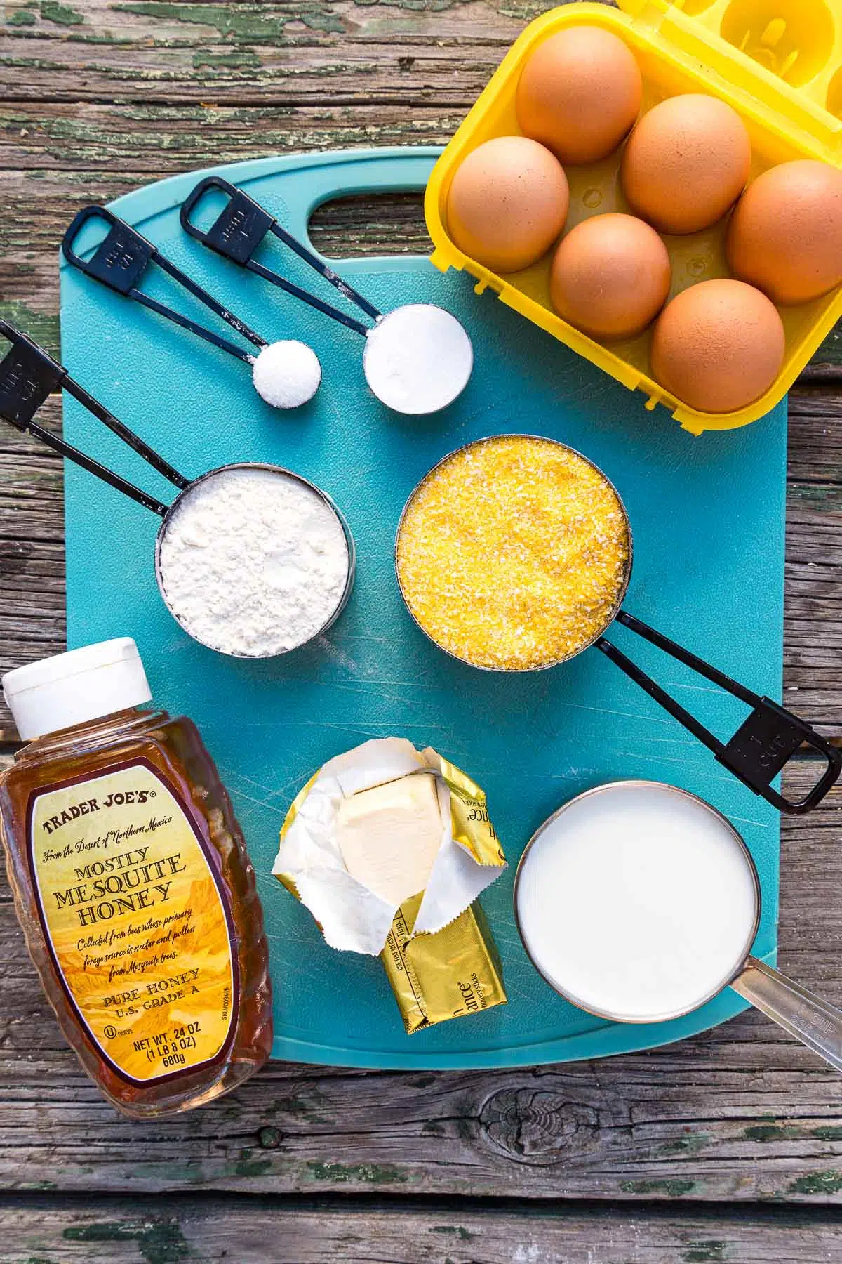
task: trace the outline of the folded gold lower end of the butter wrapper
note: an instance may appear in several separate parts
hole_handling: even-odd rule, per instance
[[[401,904],[380,961],[406,1034],[506,1004],[502,971],[478,901],[436,934],[412,937],[422,895]]]

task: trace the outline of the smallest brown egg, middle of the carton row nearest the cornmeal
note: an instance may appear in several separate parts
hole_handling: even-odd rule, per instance
[[[595,215],[567,234],[549,292],[559,316],[592,337],[632,337],[667,302],[672,268],[655,230],[632,215]]]

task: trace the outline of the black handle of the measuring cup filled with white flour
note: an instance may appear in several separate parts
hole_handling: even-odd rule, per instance
[[[95,474],[96,478],[117,492],[122,492],[124,495],[141,504],[145,509],[151,509],[163,517],[167,513],[165,504],[154,495],[141,492],[140,488],[101,465],[92,456],[73,447],[67,440],[50,434],[34,420],[38,410],[53,391],[63,387],[177,487],[187,487],[188,480],[74,382],[68,375],[67,369],[54,360],[43,346],[39,346],[27,334],[5,320],[0,320],[0,334],[11,344],[6,355],[0,360],[0,417],[23,434],[30,434],[33,439],[38,439],[39,442],[52,447],[54,453],[67,458],[67,460],[81,465],[82,469]]]

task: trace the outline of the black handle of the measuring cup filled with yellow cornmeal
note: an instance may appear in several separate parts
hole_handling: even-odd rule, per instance
[[[721,742],[691,715],[680,703],[677,703],[665,689],[661,689],[656,681],[648,676],[621,650],[617,650],[611,641],[600,637],[596,642],[597,648],[611,659],[621,671],[625,671],[635,684],[640,685],[650,698],[654,698],[679,724],[683,724],[699,742],[707,746],[723,767],[738,777],[755,794],[771,803],[779,811],[785,811],[790,815],[802,815],[818,806],[828,790],[839,779],[839,774],[842,772],[842,752],[837,751],[821,733],[817,733],[807,720],[779,707],[770,698],[755,694],[751,689],[726,676],[725,672],[718,671],[709,662],[691,653],[689,650],[685,650],[675,641],[670,641],[669,637],[649,627],[648,623],[636,619],[627,611],[620,611],[617,622],[624,623],[631,632],[635,632],[645,641],[649,641],[659,650],[663,650],[673,659],[677,659],[707,680],[711,680],[720,689],[732,694],[752,708],[751,714],[736,733],[727,742]],[[773,790],[771,782],[804,743],[824,757],[826,769],[809,794],[804,799],[793,801],[778,794],[776,790]]]

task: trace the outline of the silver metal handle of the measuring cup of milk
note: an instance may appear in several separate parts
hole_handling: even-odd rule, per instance
[[[731,982],[740,996],[842,1071],[842,1011],[755,957]]]

